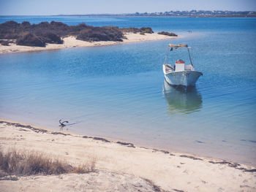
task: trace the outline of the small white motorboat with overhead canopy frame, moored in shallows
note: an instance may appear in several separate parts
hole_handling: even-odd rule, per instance
[[[172,45],[169,44],[167,47],[167,54],[165,56],[165,63],[162,66],[163,72],[165,74],[165,80],[170,85],[183,85],[183,86],[195,86],[198,78],[203,75],[201,72],[196,72],[192,64],[192,60],[189,53],[190,64],[185,64],[185,61],[179,59],[175,62],[173,66],[171,64],[166,64],[167,55],[173,48],[178,49],[179,47],[187,48],[189,53],[189,48],[187,45]]]

